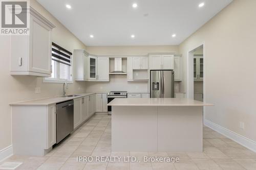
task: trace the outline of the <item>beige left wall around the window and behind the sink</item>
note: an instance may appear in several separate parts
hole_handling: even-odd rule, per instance
[[[73,52],[75,48],[86,48],[72,33],[61,25],[49,12],[42,8],[36,1],[30,1],[31,6],[40,14],[48,18],[56,28],[53,30],[53,41]],[[30,99],[45,98],[61,95],[62,84],[42,83],[42,78],[29,76],[11,76],[9,73],[10,63],[10,41],[9,36],[0,36],[1,56],[1,88],[0,98],[0,150],[8,147],[11,142],[11,108],[9,103]],[[41,93],[35,94],[35,87],[41,88]],[[85,91],[84,82],[75,82],[69,85],[68,93]],[[80,87],[80,90],[78,90]]]

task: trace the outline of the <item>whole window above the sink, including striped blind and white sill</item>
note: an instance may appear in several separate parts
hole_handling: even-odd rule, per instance
[[[73,83],[72,79],[72,53],[61,46],[52,43],[52,75],[45,78],[48,83]]]

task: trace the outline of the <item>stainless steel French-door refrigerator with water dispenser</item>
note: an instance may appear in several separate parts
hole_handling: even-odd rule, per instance
[[[151,98],[174,98],[174,71],[150,71]]]

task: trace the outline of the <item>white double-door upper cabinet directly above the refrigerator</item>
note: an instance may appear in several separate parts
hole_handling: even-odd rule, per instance
[[[150,55],[150,69],[174,69],[174,55]]]

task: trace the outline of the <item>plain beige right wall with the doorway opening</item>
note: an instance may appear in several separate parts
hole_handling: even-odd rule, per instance
[[[255,7],[255,0],[234,0],[179,46],[186,65],[187,52],[205,43],[204,96],[206,102],[215,104],[206,107],[206,119],[254,141]],[[245,123],[244,130],[239,128],[239,122]]]

